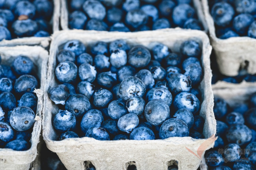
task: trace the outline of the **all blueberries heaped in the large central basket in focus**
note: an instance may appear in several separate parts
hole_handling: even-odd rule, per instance
[[[59,140],[203,139],[200,60],[196,40],[184,41],[179,54],[159,42],[149,51],[124,40],[87,48],[68,41],[57,54],[59,85],[48,90],[60,109],[52,116]]]

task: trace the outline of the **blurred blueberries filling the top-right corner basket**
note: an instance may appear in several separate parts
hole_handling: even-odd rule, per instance
[[[218,38],[256,38],[255,0],[209,0],[209,6]]]

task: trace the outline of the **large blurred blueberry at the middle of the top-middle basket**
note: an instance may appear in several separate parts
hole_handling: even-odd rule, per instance
[[[138,28],[143,24],[148,23],[148,15],[141,9],[128,11],[125,17],[125,22],[132,28]]]

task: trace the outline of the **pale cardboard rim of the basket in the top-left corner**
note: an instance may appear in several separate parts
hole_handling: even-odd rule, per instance
[[[60,20],[60,0],[52,0],[53,2],[53,14],[50,24],[52,25],[52,32],[59,31],[59,20]],[[50,37],[23,37],[15,38],[12,40],[0,41],[0,46],[16,46],[16,45],[39,45],[44,48],[49,47],[51,38]]]

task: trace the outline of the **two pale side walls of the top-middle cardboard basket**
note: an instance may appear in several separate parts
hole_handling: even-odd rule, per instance
[[[195,8],[196,15],[198,17],[198,20],[201,22],[204,31],[208,32],[207,23],[204,19],[204,12],[201,5],[200,0],[192,0],[192,7]],[[70,4],[68,3],[68,0],[61,0],[61,17],[60,17],[60,25],[62,30],[68,30],[70,29],[68,26],[69,22],[69,8]]]

